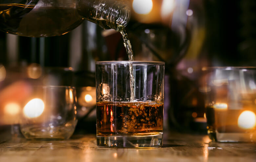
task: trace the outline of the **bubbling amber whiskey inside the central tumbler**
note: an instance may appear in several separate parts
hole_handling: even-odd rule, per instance
[[[97,136],[163,132],[162,102],[98,102]]]

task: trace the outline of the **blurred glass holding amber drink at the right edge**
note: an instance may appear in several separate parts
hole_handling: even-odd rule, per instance
[[[203,68],[207,129],[219,142],[256,141],[256,67]]]

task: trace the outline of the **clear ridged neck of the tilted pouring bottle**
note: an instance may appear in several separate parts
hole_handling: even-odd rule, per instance
[[[86,20],[104,29],[125,27],[131,15],[129,6],[116,0],[77,0],[76,8]]]

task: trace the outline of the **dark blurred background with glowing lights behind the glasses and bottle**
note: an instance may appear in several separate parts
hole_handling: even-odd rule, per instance
[[[206,133],[201,70],[205,66],[255,66],[256,2],[128,3],[132,17],[126,30],[135,60],[166,63],[165,131]],[[25,95],[29,85],[58,85],[76,88],[75,132],[96,133],[95,62],[128,60],[120,33],[103,30],[88,21],[54,37],[31,38],[0,32],[0,49],[1,128],[17,124],[11,118],[20,111],[17,105],[10,106],[4,91],[12,88]],[[23,89],[15,89],[15,84]],[[5,111],[7,105],[9,109]]]

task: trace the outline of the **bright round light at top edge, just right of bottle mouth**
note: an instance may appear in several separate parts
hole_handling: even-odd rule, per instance
[[[152,0],[133,0],[133,10],[138,14],[149,14],[152,9]]]

